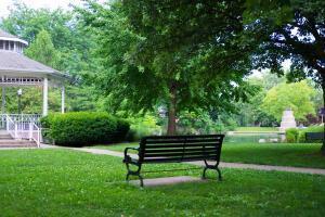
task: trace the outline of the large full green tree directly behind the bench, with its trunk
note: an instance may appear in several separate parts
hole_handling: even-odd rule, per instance
[[[102,90],[133,111],[168,108],[168,135],[180,111],[230,111],[251,89],[240,43],[244,1],[125,0],[81,11],[94,27],[105,71]]]

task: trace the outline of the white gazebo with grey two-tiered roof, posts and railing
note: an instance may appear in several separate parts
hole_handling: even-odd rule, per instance
[[[20,39],[16,36],[8,34],[0,29],[0,86],[2,88],[2,122],[4,119],[6,130],[13,136],[13,138],[24,138],[22,132],[26,123],[29,122],[29,126],[35,125],[38,116],[48,115],[48,92],[49,85],[60,87],[62,92],[62,105],[61,112],[64,113],[65,101],[65,81],[68,76],[53,69],[47,65],[43,65],[37,61],[28,59],[24,55],[24,49],[28,46],[28,42]],[[4,114],[5,110],[5,88],[8,87],[22,87],[22,86],[41,86],[43,92],[42,114]],[[18,116],[20,118],[16,118]],[[24,118],[22,118],[24,117]],[[16,120],[20,119],[20,120]],[[17,122],[25,122],[25,124],[18,124]],[[10,123],[15,127],[15,130],[10,126]],[[24,125],[24,126],[23,126]],[[37,126],[35,126],[37,127]],[[22,130],[20,130],[22,128]],[[25,127],[26,128],[26,127]],[[32,130],[29,127],[29,131]],[[11,130],[11,131],[10,131]],[[26,131],[26,130],[25,130]],[[29,135],[32,132],[28,132]],[[26,135],[26,133],[25,133]],[[29,138],[30,139],[30,138]]]

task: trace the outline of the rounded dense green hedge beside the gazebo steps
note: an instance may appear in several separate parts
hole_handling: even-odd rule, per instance
[[[41,119],[42,127],[55,144],[83,146],[125,140],[130,129],[128,122],[101,112],[54,114]]]

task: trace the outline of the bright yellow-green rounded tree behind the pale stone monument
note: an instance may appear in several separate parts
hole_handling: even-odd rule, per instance
[[[304,120],[306,115],[315,114],[311,101],[315,91],[303,80],[295,84],[281,84],[270,91],[263,100],[262,108],[265,113],[281,120],[283,111],[291,108],[298,120]]]

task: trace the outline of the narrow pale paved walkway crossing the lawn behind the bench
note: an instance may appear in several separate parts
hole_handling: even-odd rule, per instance
[[[101,150],[101,149],[88,149],[88,148],[76,148],[73,150],[88,152],[92,154],[104,154],[110,156],[123,157],[122,152],[116,152],[110,150]],[[135,154],[130,154],[132,157],[136,157]],[[204,162],[190,162],[188,164],[204,166]],[[300,174],[314,174],[314,175],[324,175],[325,169],[317,168],[306,168],[306,167],[290,167],[290,166],[271,166],[271,165],[257,165],[257,164],[242,164],[242,163],[220,163],[221,168],[239,168],[239,169],[255,169],[255,170],[266,170],[266,171],[289,171],[289,173],[300,173]]]

